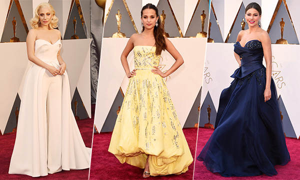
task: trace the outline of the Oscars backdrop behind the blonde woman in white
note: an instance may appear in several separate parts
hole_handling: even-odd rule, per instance
[[[52,4],[61,32],[61,57],[66,62],[72,109],[76,119],[91,116],[90,110],[90,1],[0,0],[0,131],[15,131],[23,81],[31,62],[27,59],[29,20],[41,2]]]

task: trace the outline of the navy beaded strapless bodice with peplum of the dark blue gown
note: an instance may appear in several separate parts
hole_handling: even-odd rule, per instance
[[[240,57],[241,65],[231,75],[233,78],[242,78],[249,73],[264,67],[262,65],[263,49],[259,40],[249,40],[244,47],[237,41],[234,52]]]

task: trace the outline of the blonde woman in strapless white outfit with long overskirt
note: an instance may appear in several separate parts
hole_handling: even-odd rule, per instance
[[[60,57],[58,18],[51,4],[41,3],[26,38],[28,70],[21,99],[10,174],[33,177],[89,167],[85,147],[70,106],[66,64]]]

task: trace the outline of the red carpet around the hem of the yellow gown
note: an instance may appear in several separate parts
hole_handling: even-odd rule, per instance
[[[143,169],[121,164],[107,151],[111,133],[94,133],[89,179],[145,179],[142,177]],[[194,158],[197,128],[183,128],[183,133]],[[150,176],[146,179],[192,179],[193,166],[194,162],[189,165],[188,171],[179,175]]]

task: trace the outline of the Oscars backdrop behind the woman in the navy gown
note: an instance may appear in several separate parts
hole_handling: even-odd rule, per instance
[[[272,78],[276,83],[284,133],[288,137],[299,137],[298,0],[212,0],[199,126],[213,128],[221,90],[230,85],[233,80],[230,75],[238,68],[233,44],[238,32],[248,28],[245,7],[252,1],[261,6],[261,28],[269,33],[272,42]]]

